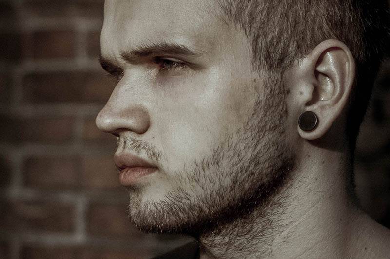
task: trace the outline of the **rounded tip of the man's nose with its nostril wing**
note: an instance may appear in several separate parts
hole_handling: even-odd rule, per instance
[[[115,110],[105,106],[96,117],[97,127],[107,133],[117,134],[120,131],[145,133],[150,126],[149,113],[142,107],[135,106]]]

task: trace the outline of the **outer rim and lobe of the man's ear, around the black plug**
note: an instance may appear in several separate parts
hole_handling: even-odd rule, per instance
[[[345,69],[346,76],[344,76],[344,84],[343,86],[335,86],[335,88],[337,88],[338,93],[333,94],[333,96],[337,96],[336,98],[331,98],[329,101],[322,101],[322,104],[319,104],[319,102],[321,101],[310,105],[303,104],[303,107],[301,107],[298,117],[304,112],[311,111],[317,116],[318,120],[316,127],[311,131],[302,130],[299,127],[299,123],[297,123],[298,134],[301,138],[306,140],[319,139],[330,130],[336,119],[343,113],[343,111],[347,107],[347,103],[351,96],[351,90],[355,82],[355,59],[353,58],[353,55],[348,46],[341,41],[335,39],[325,40],[321,42],[317,45],[317,47],[313,49],[313,51],[307,57],[304,58],[307,59],[306,63],[309,63],[305,67],[311,70],[311,76],[315,78],[314,73],[315,71],[317,71],[317,62],[322,56],[326,54],[326,52],[330,51],[331,49],[339,49],[345,53],[347,62],[344,65],[347,66],[347,68]],[[305,61],[303,61],[303,63],[305,63]],[[317,80],[315,79],[315,81]],[[317,86],[313,85],[312,87],[314,89],[314,87]],[[334,106],[334,108],[331,109],[333,110],[333,112],[326,112],[330,109],[321,108],[325,105]],[[296,121],[298,122],[298,120]]]

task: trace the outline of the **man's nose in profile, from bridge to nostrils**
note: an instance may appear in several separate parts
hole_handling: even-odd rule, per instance
[[[147,108],[129,94],[114,92],[103,109],[96,117],[96,125],[101,131],[116,136],[122,131],[145,133],[150,126],[150,116]]]

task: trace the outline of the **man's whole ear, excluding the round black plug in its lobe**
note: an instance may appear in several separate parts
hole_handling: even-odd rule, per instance
[[[355,79],[355,61],[349,48],[338,40],[326,40],[303,58],[297,67],[299,91],[295,104],[299,114],[312,111],[317,115],[317,126],[304,131],[297,125],[301,138],[321,138],[343,112]],[[297,102],[296,102],[297,101]],[[298,118],[296,118],[298,122]],[[297,123],[298,124],[298,123]]]

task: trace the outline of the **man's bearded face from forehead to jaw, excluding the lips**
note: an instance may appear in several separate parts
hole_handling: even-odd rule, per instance
[[[216,9],[105,3],[102,58],[119,81],[97,125],[118,136],[116,155],[158,168],[127,184],[144,231],[202,232],[258,205],[292,165],[282,87],[253,71],[246,37]]]

